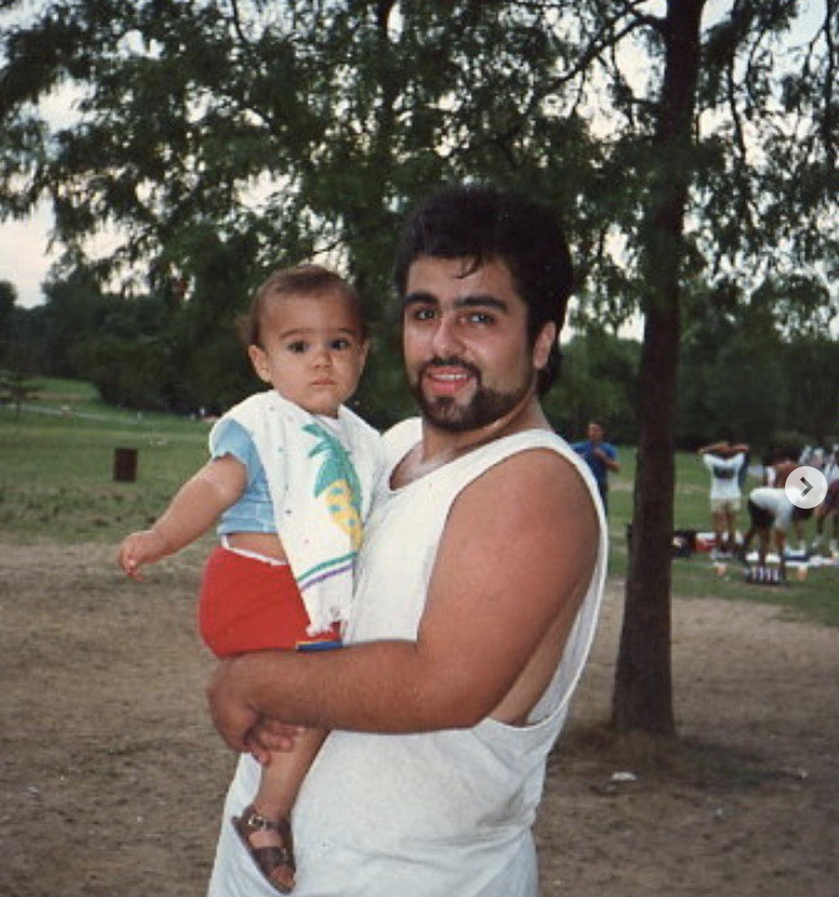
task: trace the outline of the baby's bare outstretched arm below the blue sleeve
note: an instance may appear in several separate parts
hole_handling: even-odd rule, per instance
[[[133,579],[142,579],[143,564],[159,561],[195,542],[224,509],[240,498],[246,483],[247,470],[232,455],[208,461],[180,487],[151,529],[127,536],[119,547],[119,566]]]

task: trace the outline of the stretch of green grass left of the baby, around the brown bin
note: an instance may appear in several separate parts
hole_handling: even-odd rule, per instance
[[[122,412],[103,405],[85,384],[39,382],[39,400],[20,416],[0,407],[0,537],[6,543],[116,543],[156,517],[205,459],[204,422]],[[114,482],[116,448],[136,449],[134,483]]]

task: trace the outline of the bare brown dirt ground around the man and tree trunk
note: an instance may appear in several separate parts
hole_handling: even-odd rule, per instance
[[[137,586],[108,546],[0,544],[4,897],[204,893],[233,758],[205,715],[196,551]],[[682,737],[618,748],[620,596],[550,762],[544,897],[837,897],[839,631],[676,599]]]

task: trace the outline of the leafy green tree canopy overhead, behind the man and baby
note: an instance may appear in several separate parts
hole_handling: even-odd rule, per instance
[[[839,117],[820,111],[832,108],[835,16],[798,48],[792,2],[723,13],[703,36],[695,146],[652,152],[666,30],[629,5],[4,6],[16,15],[2,32],[0,214],[48,200],[67,249],[40,322],[40,370],[90,376],[67,334],[95,332],[95,283],[130,271],[129,293],[177,311],[144,352],[156,366],[177,347],[181,376],[156,371],[156,401],[224,404],[249,388],[233,318],[270,269],[314,258],[370,300],[380,351],[365,403],[377,416],[403,406],[388,314],[394,233],[407,206],[452,179],[524,187],[564,214],[581,327],[616,325],[650,298],[638,263],[665,165],[686,172],[686,279],[712,291],[768,284],[785,334],[824,332],[835,316],[816,266],[837,255]],[[649,78],[626,63],[639,53]],[[66,87],[83,91],[78,120],[53,127],[39,100]],[[123,240],[94,264],[85,239],[105,223]],[[103,387],[135,404],[148,391]],[[613,414],[623,396],[597,401]]]

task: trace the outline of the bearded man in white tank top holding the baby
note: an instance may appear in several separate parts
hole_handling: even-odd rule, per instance
[[[451,187],[408,220],[395,270],[422,419],[389,434],[344,649],[219,667],[214,721],[264,756],[332,729],[293,814],[297,897],[535,897],[530,826],[590,647],[605,520],[538,395],[571,291],[553,213]],[[225,817],[258,765],[240,758]],[[211,897],[270,895],[223,825]]]

